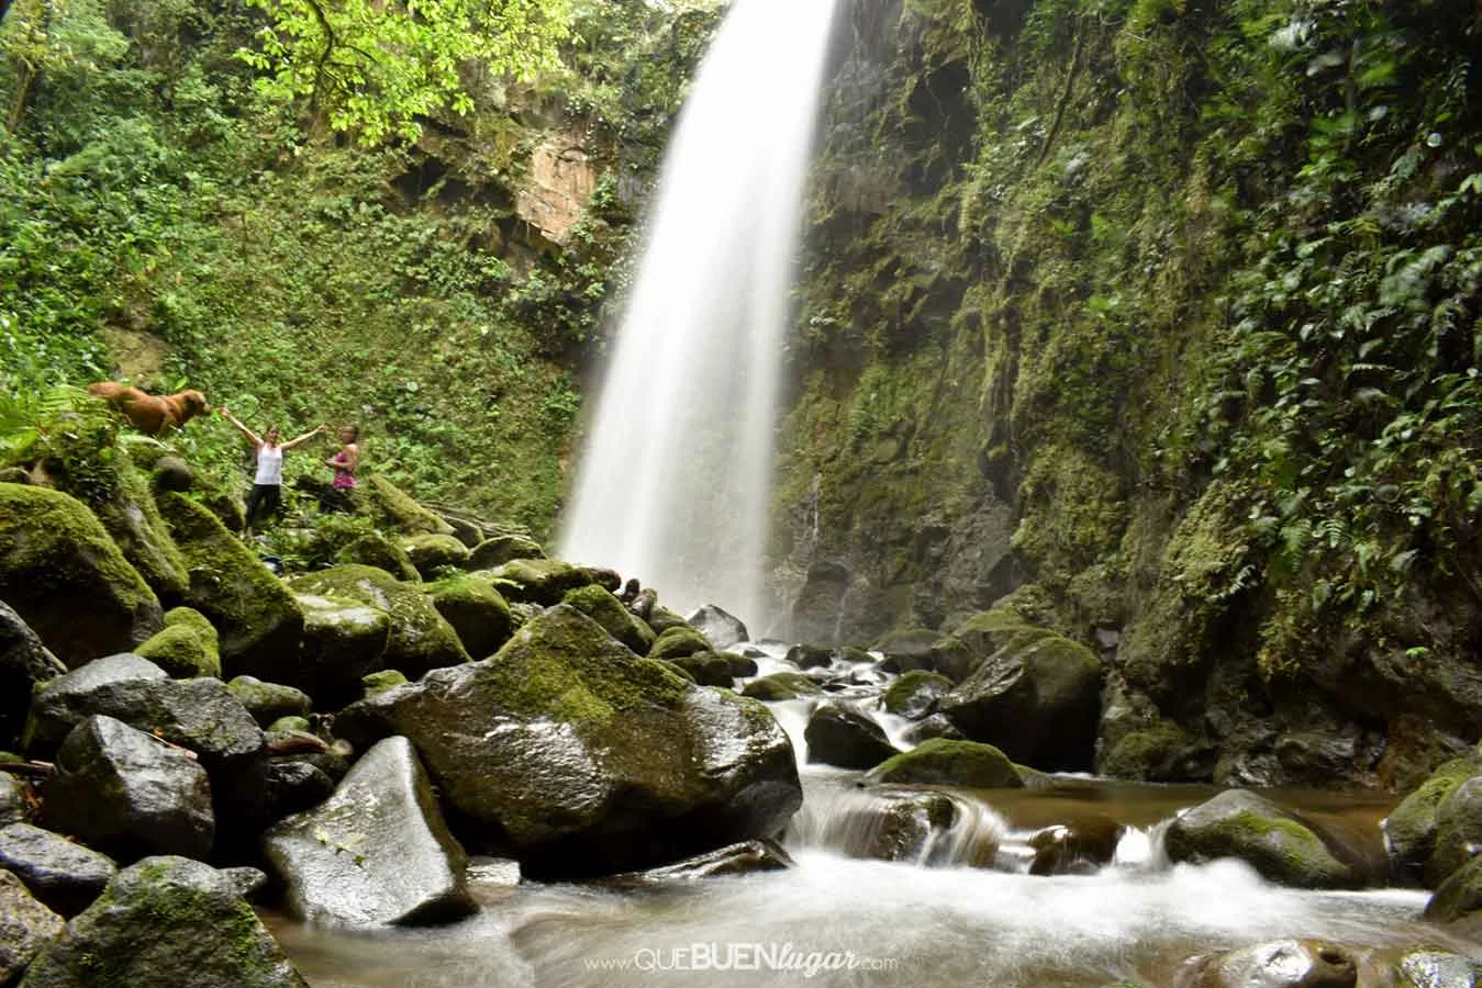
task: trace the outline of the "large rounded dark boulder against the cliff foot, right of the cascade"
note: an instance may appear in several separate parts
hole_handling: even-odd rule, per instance
[[[963,735],[1036,769],[1085,770],[1095,750],[1101,664],[1091,649],[1011,610],[978,615],[959,630],[997,644],[975,671],[937,701]]]

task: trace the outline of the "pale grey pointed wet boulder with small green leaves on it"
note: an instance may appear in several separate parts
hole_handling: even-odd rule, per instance
[[[409,926],[476,909],[464,849],[406,738],[376,744],[329,800],[277,824],[262,846],[299,920]]]

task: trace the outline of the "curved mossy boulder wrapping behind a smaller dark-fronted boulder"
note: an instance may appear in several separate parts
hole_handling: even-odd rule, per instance
[[[468,661],[458,632],[437,613],[422,588],[403,584],[382,569],[335,566],[299,576],[292,588],[299,594],[342,597],[384,610],[391,619],[391,630],[381,662],[412,678]]]

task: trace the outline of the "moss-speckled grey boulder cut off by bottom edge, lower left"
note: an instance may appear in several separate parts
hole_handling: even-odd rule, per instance
[[[145,858],[67,924],[21,988],[307,988],[234,880],[188,858]]]

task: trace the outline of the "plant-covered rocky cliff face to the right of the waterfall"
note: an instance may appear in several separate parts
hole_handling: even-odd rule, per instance
[[[1104,650],[1098,767],[1140,778],[1408,784],[1475,742],[1478,47],[1449,0],[849,7],[797,630],[1017,591]]]

